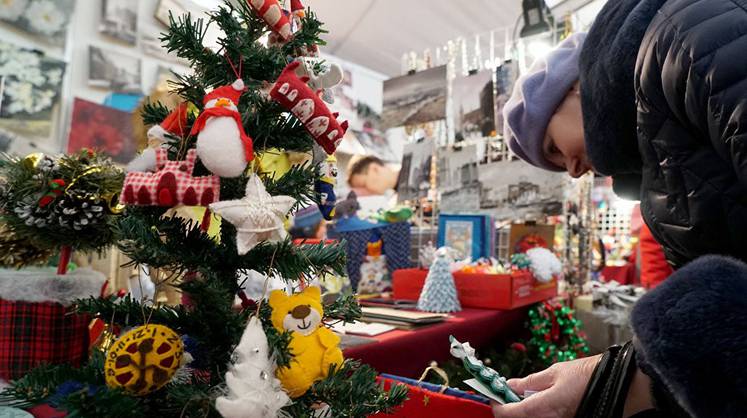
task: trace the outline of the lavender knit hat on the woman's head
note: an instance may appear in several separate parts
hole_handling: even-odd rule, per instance
[[[576,33],[540,58],[514,85],[503,107],[504,138],[516,155],[533,166],[565,171],[542,151],[545,131],[555,109],[578,80],[578,56],[586,33]]]

